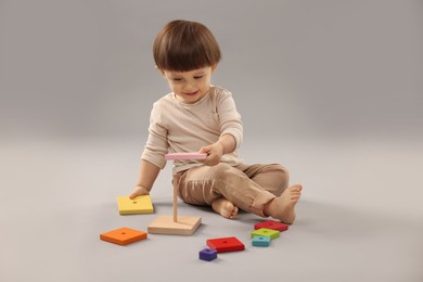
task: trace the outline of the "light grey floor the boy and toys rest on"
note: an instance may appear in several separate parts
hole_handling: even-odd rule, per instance
[[[423,281],[423,142],[393,139],[262,140],[247,163],[279,162],[304,184],[297,221],[268,248],[251,246],[260,218],[201,216],[192,236],[153,235],[128,246],[99,240],[119,227],[146,230],[171,214],[170,166],[152,192],[153,215],[119,216],[116,197],[138,175],[143,139],[2,140],[0,281]],[[259,148],[262,148],[259,150]],[[198,260],[210,238],[246,249]]]

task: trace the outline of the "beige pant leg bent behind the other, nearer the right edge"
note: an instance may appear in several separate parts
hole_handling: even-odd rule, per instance
[[[275,196],[280,196],[290,183],[290,172],[280,164],[243,164],[238,168],[262,189]]]

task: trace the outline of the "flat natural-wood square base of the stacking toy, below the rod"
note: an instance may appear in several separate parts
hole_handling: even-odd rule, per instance
[[[178,216],[174,221],[174,216],[158,216],[148,227],[151,234],[170,234],[170,235],[192,235],[202,223],[201,217]]]

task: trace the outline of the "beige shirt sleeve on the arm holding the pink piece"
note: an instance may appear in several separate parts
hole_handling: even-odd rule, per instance
[[[236,142],[236,149],[240,148],[243,140],[243,125],[231,92],[223,90],[223,94],[217,104],[217,113],[219,116],[220,136],[231,134]]]

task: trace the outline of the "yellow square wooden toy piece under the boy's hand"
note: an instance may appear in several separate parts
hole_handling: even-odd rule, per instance
[[[129,196],[118,196],[117,207],[120,215],[153,214],[154,211],[150,195],[141,195],[132,200]]]

